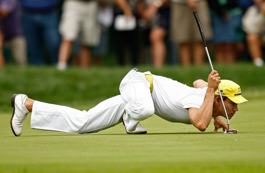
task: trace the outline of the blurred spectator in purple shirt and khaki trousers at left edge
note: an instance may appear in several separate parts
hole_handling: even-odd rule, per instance
[[[1,47],[11,50],[18,65],[27,64],[26,41],[23,36],[16,0],[0,0]],[[4,58],[2,58],[4,62]]]

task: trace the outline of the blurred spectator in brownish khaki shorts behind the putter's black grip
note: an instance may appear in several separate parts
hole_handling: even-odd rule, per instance
[[[196,10],[203,25],[206,41],[211,38],[210,14],[205,0],[171,0],[170,34],[173,41],[179,43],[180,62],[189,65],[204,63],[205,49],[200,32],[193,16]],[[190,51],[190,46],[193,51]],[[193,53],[193,54],[192,54]]]

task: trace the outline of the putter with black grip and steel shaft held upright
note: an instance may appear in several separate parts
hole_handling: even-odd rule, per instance
[[[199,19],[199,16],[198,16],[198,13],[197,11],[193,11],[193,15],[196,19],[196,22],[197,22],[197,25],[198,25],[198,28],[199,28],[199,31],[200,31],[200,34],[201,34],[201,39],[202,39],[202,42],[204,44],[204,47],[205,47],[205,50],[206,50],[206,54],[207,54],[207,57],[209,59],[209,62],[210,62],[210,66],[211,66],[211,69],[212,71],[214,70],[213,68],[213,64],[211,62],[211,59],[210,59],[210,55],[209,55],[209,52],[208,52],[208,49],[207,49],[207,46],[206,46],[206,40],[205,40],[205,37],[204,37],[204,32],[202,30],[202,27],[201,27],[201,22],[200,22],[200,19]],[[224,101],[223,101],[223,98],[222,98],[222,94],[220,92],[220,88],[218,86],[218,91],[219,91],[219,95],[220,95],[220,98],[221,98],[221,101],[222,101],[222,104],[223,104],[223,107],[224,107],[224,112],[226,113],[226,118],[227,118],[227,130],[224,131],[224,134],[232,134],[232,133],[237,133],[237,130],[229,130],[229,119],[228,119],[228,115],[227,115],[227,112],[226,112],[226,107],[224,106]]]

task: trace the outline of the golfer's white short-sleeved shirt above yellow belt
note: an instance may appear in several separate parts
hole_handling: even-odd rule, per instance
[[[152,76],[154,114],[169,122],[191,124],[187,108],[201,107],[207,87],[193,88],[166,77]]]

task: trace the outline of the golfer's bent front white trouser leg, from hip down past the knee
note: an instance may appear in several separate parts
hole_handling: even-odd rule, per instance
[[[127,130],[134,131],[139,121],[154,114],[150,82],[143,73],[131,70],[121,81],[120,92],[129,118]]]

